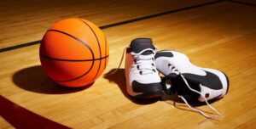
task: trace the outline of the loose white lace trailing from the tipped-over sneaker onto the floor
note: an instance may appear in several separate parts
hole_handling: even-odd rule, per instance
[[[212,109],[213,111],[215,111],[215,113],[218,114],[218,115],[207,115],[207,114],[206,114],[204,111],[202,111],[201,109],[195,109],[194,107],[190,106],[189,103],[187,102],[187,100],[186,100],[185,98],[183,98],[182,95],[178,95],[177,97],[178,97],[178,98],[182,98],[182,99],[183,99],[183,102],[184,102],[185,104],[187,104],[187,106],[189,107],[189,109],[192,109],[192,110],[194,110],[194,111],[200,113],[201,115],[204,115],[204,116],[207,117],[207,118],[214,118],[214,117],[218,117],[218,116],[221,115],[221,114],[218,112],[217,109],[214,109],[214,108],[211,106],[211,104],[208,103],[207,98],[205,98],[205,96],[204,96],[202,93],[196,91],[195,89],[193,89],[193,88],[191,88],[191,87],[189,86],[189,83],[188,83],[188,81],[186,80],[186,78],[183,76],[182,73],[180,73],[180,72],[175,68],[174,65],[169,64],[169,70],[170,70],[171,72],[173,72],[173,73],[176,73],[177,75],[180,75],[180,76],[183,78],[183,81],[185,82],[186,86],[189,87],[189,90],[191,90],[191,91],[193,91],[193,92],[195,92],[195,93],[200,94],[200,95],[205,99],[205,101],[206,101],[206,103],[207,103],[207,106],[208,106],[210,109]]]

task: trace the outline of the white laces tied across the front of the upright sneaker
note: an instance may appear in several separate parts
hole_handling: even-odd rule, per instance
[[[146,51],[152,51],[152,53],[148,55],[143,55]],[[154,64],[154,55],[155,51],[152,48],[146,48],[140,53],[133,53],[131,55],[134,59],[133,67],[136,66],[137,70],[139,70],[140,75],[153,74],[156,72],[155,64]]]

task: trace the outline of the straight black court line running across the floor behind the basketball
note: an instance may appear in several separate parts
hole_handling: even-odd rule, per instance
[[[177,8],[177,9],[169,10],[169,11],[162,12],[162,13],[159,13],[159,14],[151,14],[151,15],[139,17],[139,18],[132,19],[132,20],[125,20],[125,21],[120,21],[120,22],[117,22],[117,23],[109,24],[109,25],[103,25],[103,26],[100,26],[99,28],[107,29],[107,28],[111,28],[111,27],[114,27],[114,26],[125,25],[125,24],[128,24],[128,23],[136,22],[136,21],[139,21],[139,20],[148,20],[148,19],[155,18],[155,17],[161,16],[161,15],[174,14],[174,13],[177,13],[177,12],[186,11],[186,10],[194,9],[194,8],[201,8],[201,7],[204,7],[204,6],[208,6],[208,5],[212,5],[212,4],[216,4],[216,3],[221,3],[221,2],[225,2],[225,1],[224,0],[217,0],[217,1],[208,2],[208,3],[195,4],[195,5],[184,7],[184,8]],[[10,50],[14,50],[14,49],[17,49],[17,48],[25,48],[25,47],[28,47],[28,46],[36,45],[36,44],[39,44],[40,42],[41,42],[41,40],[38,40],[38,41],[34,41],[34,42],[22,43],[22,44],[7,47],[7,48],[0,48],[0,53],[7,52],[7,51],[10,51]]]

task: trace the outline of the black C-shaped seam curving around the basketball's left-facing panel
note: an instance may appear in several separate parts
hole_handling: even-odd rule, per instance
[[[64,34],[64,35],[66,35],[66,36],[72,37],[72,38],[75,39],[76,41],[82,43],[86,48],[88,48],[88,49],[90,50],[91,55],[92,55],[92,59],[93,59],[93,60],[91,60],[92,63],[91,63],[91,65],[90,65],[90,69],[87,70],[87,71],[85,71],[83,75],[74,77],[73,79],[69,79],[69,80],[67,80],[67,81],[74,81],[74,80],[77,80],[77,79],[79,79],[79,78],[81,78],[81,77],[87,75],[87,74],[90,72],[90,70],[93,68],[93,66],[94,66],[94,61],[95,61],[95,60],[94,60],[94,59],[95,59],[94,53],[93,53],[92,49],[90,48],[90,46],[88,46],[88,44],[87,44],[86,42],[80,40],[79,38],[77,38],[77,37],[75,37],[75,36],[72,36],[72,35],[70,35],[70,34],[64,32],[64,31],[58,31],[58,30],[48,30],[48,31],[55,31],[55,32],[59,32],[59,33],[61,33],[61,34]],[[58,82],[67,82],[67,81],[58,81]]]

